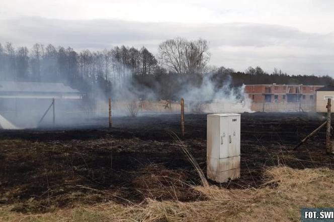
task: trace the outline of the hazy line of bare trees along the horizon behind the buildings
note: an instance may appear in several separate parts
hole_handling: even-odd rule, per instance
[[[157,55],[144,46],[140,49],[116,46],[102,51],[82,50],[36,43],[32,48],[0,43],[0,78],[2,81],[63,82],[83,93],[113,96],[127,88],[145,98],[147,89],[157,98],[174,98],[184,85],[197,87],[209,75],[214,86],[242,84],[333,84],[331,77],[288,75],[261,67],[244,72],[231,68],[209,67],[206,40],[180,37],[158,45]],[[145,90],[143,90],[145,89]]]

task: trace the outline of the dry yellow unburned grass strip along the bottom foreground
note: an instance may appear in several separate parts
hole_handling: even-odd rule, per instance
[[[123,206],[113,202],[74,206],[44,214],[22,214],[0,207],[2,221],[299,221],[301,207],[334,207],[334,171],[326,168],[266,170],[259,189],[227,190],[200,186],[205,201],[155,201]]]

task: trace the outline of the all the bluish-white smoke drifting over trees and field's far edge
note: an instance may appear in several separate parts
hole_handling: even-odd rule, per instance
[[[45,84],[43,82],[67,83],[72,88],[79,89],[84,96],[82,99],[55,98],[55,125],[53,108],[42,120],[52,102],[52,97],[43,97],[42,93],[36,98],[24,96],[16,98],[15,95],[2,98],[0,124],[3,128],[90,125],[97,118],[108,117],[109,97],[112,99],[113,116],[129,116],[127,107],[135,103],[141,107],[139,114],[180,112],[179,101],[182,97],[185,99],[186,112],[250,112],[250,101],[244,97],[244,86],[233,87],[231,77],[228,75],[221,81],[215,78],[214,75],[217,74],[215,72],[202,75],[166,73],[159,67],[153,66],[149,67],[149,71],[143,71],[138,60],[141,51],[134,48],[116,47],[110,51],[93,53],[85,50],[78,54],[71,48],[60,47],[56,50],[52,45],[44,48],[41,45],[37,46],[40,50],[45,50],[43,56],[39,51],[33,50],[34,54],[31,57],[26,55],[26,60],[21,62],[22,64],[19,60],[21,57],[13,63],[16,70],[13,73],[25,73],[25,76],[14,78],[10,75],[11,78],[5,79],[37,81],[39,86],[43,86]],[[37,49],[36,47],[34,49]],[[125,59],[130,52],[134,52],[133,63],[132,60],[129,63]],[[9,66],[11,57],[6,55],[3,58],[5,64]],[[2,71],[0,75],[7,73],[10,68],[0,70]],[[61,92],[61,89],[55,91]],[[173,101],[171,104],[166,104],[166,100]],[[104,124],[108,123],[103,122],[102,125]]]

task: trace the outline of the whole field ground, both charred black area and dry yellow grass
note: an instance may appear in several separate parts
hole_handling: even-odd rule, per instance
[[[300,207],[333,206],[323,133],[292,150],[321,117],[241,117],[241,178],[205,186],[180,147],[205,172],[205,115],[186,116],[179,142],[173,115],[112,130],[3,132],[0,220],[297,221]]]

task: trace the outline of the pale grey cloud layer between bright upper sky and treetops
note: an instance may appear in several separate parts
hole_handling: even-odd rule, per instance
[[[122,20],[57,20],[37,17],[0,20],[0,42],[16,46],[51,43],[76,50],[116,45],[146,46],[156,53],[159,42],[181,36],[210,42],[211,64],[243,71],[261,66],[293,74],[334,76],[334,36],[296,28],[255,23],[183,24]]]

